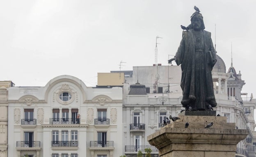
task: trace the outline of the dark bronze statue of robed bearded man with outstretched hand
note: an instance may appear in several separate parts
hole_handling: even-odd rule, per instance
[[[216,52],[211,33],[204,30],[202,14],[196,11],[190,20],[190,29],[183,31],[176,55],[168,63],[175,60],[177,65],[181,64],[181,104],[186,111],[213,110],[217,103],[211,71],[217,62]]]

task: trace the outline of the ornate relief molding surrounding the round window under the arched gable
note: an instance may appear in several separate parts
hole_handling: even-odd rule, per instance
[[[59,99],[59,95],[63,92],[68,92],[71,95],[71,99],[69,101],[62,101]],[[53,102],[55,102],[55,99],[57,102],[63,105],[70,104],[74,100],[78,102],[78,93],[74,91],[72,88],[69,87],[68,84],[62,84],[61,88],[57,89],[57,91],[53,92]]]

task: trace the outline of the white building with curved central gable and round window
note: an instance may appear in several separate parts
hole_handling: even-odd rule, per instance
[[[62,75],[8,92],[8,157],[121,155],[122,88],[91,88]]]

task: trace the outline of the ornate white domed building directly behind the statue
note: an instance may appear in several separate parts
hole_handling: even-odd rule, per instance
[[[248,129],[249,135],[237,145],[236,157],[256,157],[253,135],[256,99],[242,100],[245,84],[233,66],[226,73],[223,60],[217,56],[212,71],[217,107],[216,113],[235,123],[237,129]],[[231,71],[231,72],[230,72]],[[234,71],[232,73],[232,71]],[[138,150],[151,148],[158,157],[158,150],[147,142],[147,136],[161,128],[170,115],[178,116],[181,109],[180,66],[134,66],[133,76],[125,78],[123,86],[123,145],[127,157],[136,157]],[[137,82],[137,83],[136,83]],[[142,92],[144,90],[144,93]],[[249,155],[250,153],[250,155]]]

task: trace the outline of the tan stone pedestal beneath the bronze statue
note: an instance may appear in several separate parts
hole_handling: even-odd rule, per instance
[[[245,129],[235,129],[235,123],[226,123],[226,117],[179,117],[147,137],[160,157],[235,157],[236,144],[248,134]],[[213,126],[205,128],[210,122]]]

